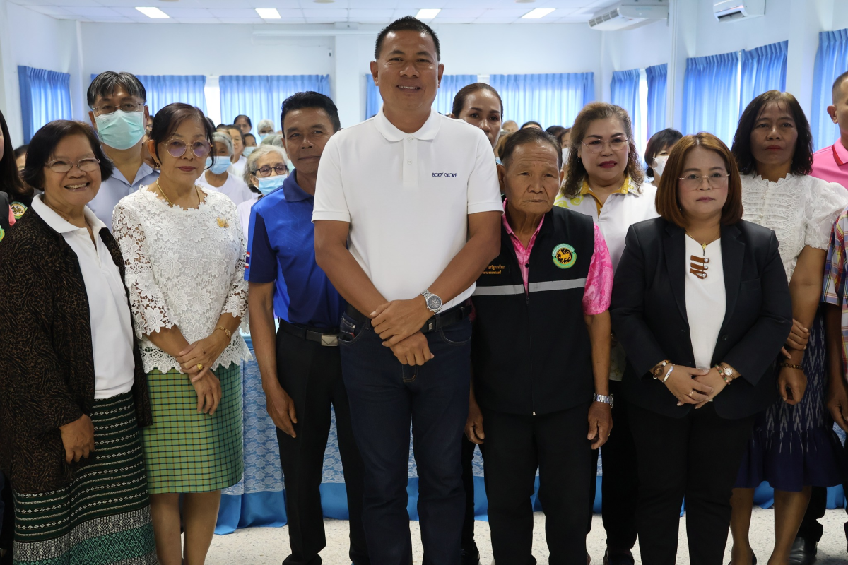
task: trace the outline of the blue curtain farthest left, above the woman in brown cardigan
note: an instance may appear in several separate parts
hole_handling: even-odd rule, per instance
[[[29,143],[42,125],[54,119],[71,119],[70,74],[18,66],[20,114],[24,143]]]

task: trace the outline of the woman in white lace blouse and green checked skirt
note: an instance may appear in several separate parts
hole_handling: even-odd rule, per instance
[[[196,184],[214,153],[212,133],[198,108],[160,110],[148,141],[159,180],[114,208],[153,407],[144,457],[163,565],[204,562],[220,489],[235,485],[243,469],[245,245],[235,204]]]

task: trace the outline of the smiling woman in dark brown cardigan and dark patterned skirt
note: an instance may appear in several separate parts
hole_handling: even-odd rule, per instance
[[[113,165],[59,120],[33,136],[44,191],[0,246],[0,467],[14,491],[14,562],[156,562],[139,424],[147,383],[124,261],[86,207]]]

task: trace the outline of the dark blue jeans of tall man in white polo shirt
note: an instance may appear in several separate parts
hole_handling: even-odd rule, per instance
[[[412,562],[406,512],[410,421],[424,565],[457,565],[466,497],[462,433],[471,382],[471,322],[427,334],[435,356],[402,365],[369,321],[342,320],[340,348],[356,443],[365,463],[363,521],[371,562]]]

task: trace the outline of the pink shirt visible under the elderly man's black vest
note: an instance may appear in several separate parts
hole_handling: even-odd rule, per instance
[[[504,201],[504,209],[506,209],[506,201]],[[533,245],[536,243],[538,230],[542,229],[544,217],[538,223],[536,232],[533,237],[527,242],[527,248],[522,245],[515,232],[512,231],[510,223],[506,221],[506,214],[501,216],[504,222],[506,233],[510,235],[512,247],[516,250],[516,258],[518,259],[518,267],[522,269],[522,280],[524,280],[524,291],[527,292],[527,279],[530,276],[530,253],[533,252]],[[594,224],[594,253],[592,253],[592,262],[589,263],[589,276],[586,277],[586,286],[583,289],[583,313],[587,316],[594,316],[605,312],[610,308],[612,297],[612,259],[610,251],[606,248],[604,235],[600,233],[598,224]]]

